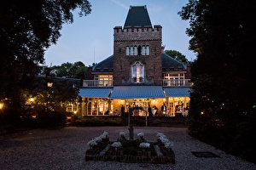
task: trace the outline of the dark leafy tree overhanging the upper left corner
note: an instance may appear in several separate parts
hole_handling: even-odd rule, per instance
[[[0,99],[19,100],[44,51],[61,37],[61,26],[73,23],[72,11],[90,14],[87,0],[4,0],[0,6]]]

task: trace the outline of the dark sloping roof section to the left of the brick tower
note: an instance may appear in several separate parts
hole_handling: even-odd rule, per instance
[[[92,67],[92,71],[103,71],[112,72],[113,71],[113,55],[109,56],[107,59],[102,60],[97,65]]]

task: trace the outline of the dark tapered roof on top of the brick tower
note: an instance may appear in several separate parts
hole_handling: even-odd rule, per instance
[[[152,27],[146,5],[130,6],[130,9],[125,20],[124,28],[134,26]]]

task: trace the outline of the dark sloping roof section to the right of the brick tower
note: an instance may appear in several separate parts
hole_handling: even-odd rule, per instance
[[[162,53],[162,70],[163,71],[177,71],[179,69],[185,70],[186,65],[183,62],[178,61],[177,59],[173,59],[171,56]]]

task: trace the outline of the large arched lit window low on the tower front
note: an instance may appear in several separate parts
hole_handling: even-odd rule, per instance
[[[131,81],[136,83],[144,82],[144,65],[136,62],[131,65]]]

